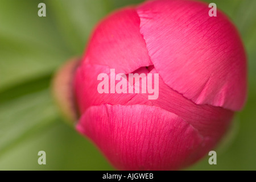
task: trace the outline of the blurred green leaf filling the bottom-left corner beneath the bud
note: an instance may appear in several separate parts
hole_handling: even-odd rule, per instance
[[[38,152],[46,152],[46,165]],[[63,121],[42,127],[0,157],[0,170],[113,170],[100,151]]]

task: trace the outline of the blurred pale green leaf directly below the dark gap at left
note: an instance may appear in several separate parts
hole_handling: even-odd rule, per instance
[[[0,156],[23,137],[58,117],[48,90],[0,105]]]

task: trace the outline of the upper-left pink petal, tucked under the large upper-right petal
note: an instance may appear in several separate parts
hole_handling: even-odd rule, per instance
[[[152,65],[139,23],[131,7],[108,16],[94,31],[84,63],[108,65],[122,73]]]

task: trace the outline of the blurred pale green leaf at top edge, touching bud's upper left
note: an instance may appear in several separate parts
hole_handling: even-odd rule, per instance
[[[108,13],[104,0],[49,0],[46,4],[51,11],[48,16],[55,18],[57,30],[76,54],[84,52],[92,28]]]

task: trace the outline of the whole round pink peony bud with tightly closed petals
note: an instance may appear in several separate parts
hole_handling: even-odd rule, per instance
[[[147,1],[116,11],[93,32],[75,72],[76,129],[116,168],[189,166],[216,146],[245,104],[240,36],[224,14],[209,10],[196,1]],[[101,73],[109,93],[98,92]],[[159,73],[151,83],[158,97],[118,92],[119,73]]]

